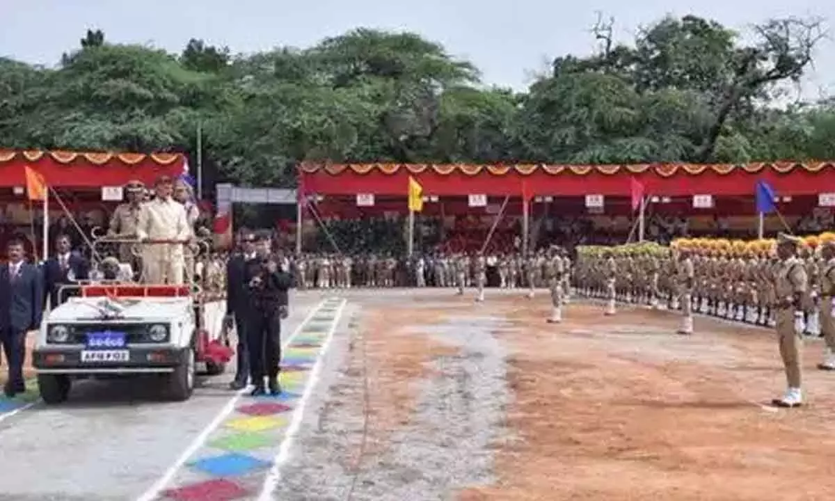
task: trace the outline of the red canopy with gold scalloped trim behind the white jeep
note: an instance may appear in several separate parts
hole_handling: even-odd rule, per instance
[[[8,210],[10,205],[25,204],[26,168],[43,178],[49,189],[66,197],[69,205],[109,206],[118,200],[104,200],[104,192],[119,188],[131,180],[150,185],[160,175],[172,178],[187,170],[185,155],[175,153],[79,153],[73,151],[0,149],[0,202]],[[113,198],[112,196],[110,198]],[[59,205],[51,210],[60,212]],[[49,209],[44,211],[48,218]],[[43,247],[46,255],[46,226]]]

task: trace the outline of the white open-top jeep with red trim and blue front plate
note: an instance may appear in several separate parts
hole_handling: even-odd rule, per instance
[[[157,375],[173,400],[186,400],[198,364],[215,375],[232,356],[220,342],[218,296],[199,286],[122,281],[79,283],[49,312],[38,333],[33,366],[47,403],[68,398],[74,379]]]

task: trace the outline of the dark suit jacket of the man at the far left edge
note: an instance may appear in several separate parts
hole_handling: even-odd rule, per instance
[[[17,279],[12,280],[8,263],[0,265],[0,328],[37,329],[42,315],[43,276],[38,266],[23,263]]]

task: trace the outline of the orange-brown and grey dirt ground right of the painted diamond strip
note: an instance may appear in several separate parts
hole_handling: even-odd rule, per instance
[[[353,293],[362,305],[279,498],[822,499],[835,375],[807,342],[805,407],[772,331],[521,293]],[[286,494],[286,497],[282,497]]]

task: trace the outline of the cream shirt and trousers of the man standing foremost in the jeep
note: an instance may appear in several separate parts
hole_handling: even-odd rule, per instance
[[[185,207],[175,200],[151,200],[139,211],[136,229],[139,240],[176,240],[191,238]],[[185,253],[182,244],[145,244],[143,281],[149,284],[182,284]]]

